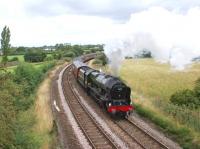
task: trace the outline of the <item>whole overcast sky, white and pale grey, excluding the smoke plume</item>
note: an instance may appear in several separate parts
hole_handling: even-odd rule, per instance
[[[200,0],[1,0],[0,31],[9,26],[13,46],[105,43],[154,6],[184,15]]]

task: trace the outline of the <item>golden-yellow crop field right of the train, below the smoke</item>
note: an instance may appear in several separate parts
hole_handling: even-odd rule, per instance
[[[153,59],[125,60],[120,77],[133,93],[168,100],[174,92],[194,87],[195,80],[200,77],[200,65],[175,71],[168,64],[159,64]]]

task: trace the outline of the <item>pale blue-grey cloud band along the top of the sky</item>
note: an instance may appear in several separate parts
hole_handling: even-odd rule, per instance
[[[40,0],[26,3],[26,10],[32,15],[81,14],[108,17],[114,20],[128,20],[132,13],[149,7],[160,6],[178,12],[187,12],[200,6],[199,0]]]

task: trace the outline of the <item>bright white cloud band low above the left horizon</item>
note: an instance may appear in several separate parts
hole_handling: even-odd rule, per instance
[[[61,15],[4,20],[11,30],[14,46],[41,46],[56,43],[104,43],[118,25],[110,19],[95,16]]]

